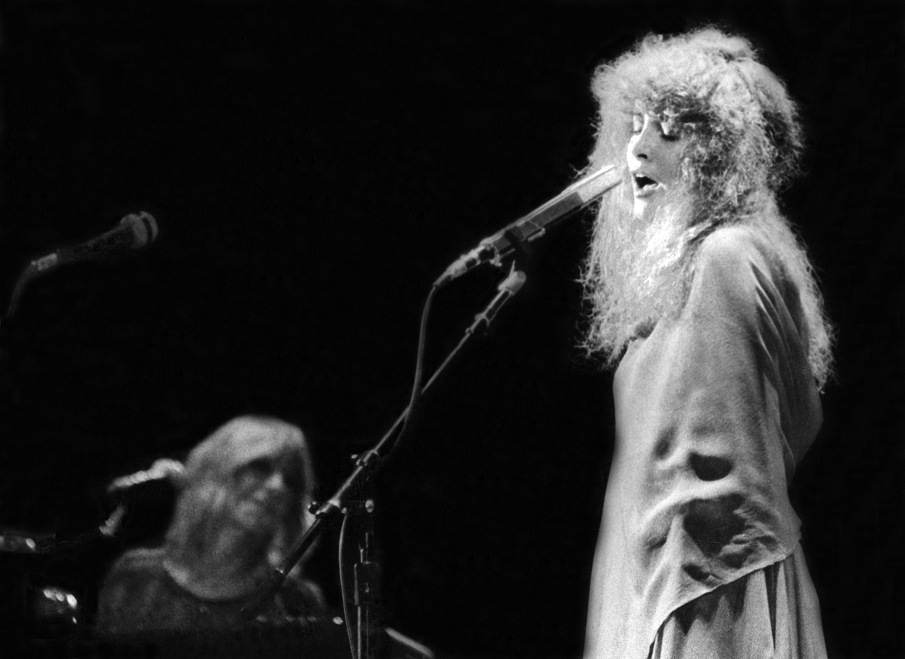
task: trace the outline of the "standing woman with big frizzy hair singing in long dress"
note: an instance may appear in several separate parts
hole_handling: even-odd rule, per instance
[[[585,656],[825,657],[787,490],[832,328],[777,208],[794,102],[744,38],[650,35],[597,69],[589,169],[620,164],[583,282],[615,368]]]

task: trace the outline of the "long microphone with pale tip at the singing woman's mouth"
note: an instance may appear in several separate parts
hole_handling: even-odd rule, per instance
[[[500,266],[502,259],[506,259],[515,252],[512,239],[527,242],[538,240],[547,232],[548,228],[552,228],[558,221],[593,202],[597,197],[609,192],[622,182],[622,172],[616,169],[615,165],[608,165],[593,174],[588,174],[569,185],[547,203],[529,212],[528,215],[481,240],[476,248],[453,261],[452,265],[446,268],[443,275],[437,279],[434,286],[443,286],[483,263]]]

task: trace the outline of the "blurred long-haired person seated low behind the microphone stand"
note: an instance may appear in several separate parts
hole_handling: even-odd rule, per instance
[[[166,540],[127,551],[110,569],[99,596],[102,633],[241,626],[243,604],[312,521],[309,447],[280,419],[233,419],[169,473],[178,498]],[[298,572],[259,620],[323,613],[319,588]]]

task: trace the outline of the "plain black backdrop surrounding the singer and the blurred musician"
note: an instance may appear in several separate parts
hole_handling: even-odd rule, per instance
[[[304,6],[3,5],[0,292],[127,212],[161,227],[133,259],[34,282],[5,326],[5,527],[87,532],[110,478],[249,411],[300,424],[329,494],[405,407],[433,279],[585,164],[595,64],[720,22],[763,48],[807,130],[784,202],[838,350],[793,501],[827,645],[900,656],[899,3]],[[611,376],[576,348],[589,231],[543,242],[378,480],[387,616],[441,654],[581,651],[612,450]],[[437,297],[429,367],[495,277]],[[310,570],[335,605],[334,547]]]

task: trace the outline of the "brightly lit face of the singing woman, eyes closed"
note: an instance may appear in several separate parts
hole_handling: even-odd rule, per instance
[[[632,137],[625,161],[632,174],[634,216],[649,217],[681,184],[682,154],[687,143],[675,130],[646,112],[632,117]]]

